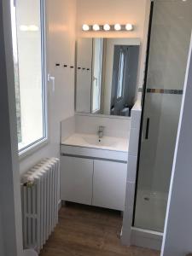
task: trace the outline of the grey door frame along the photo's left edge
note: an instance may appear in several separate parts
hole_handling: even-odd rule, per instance
[[[20,170],[17,142],[15,76],[12,50],[10,1],[0,0],[0,244],[4,256],[23,255]],[[5,196],[6,195],[6,196]],[[3,248],[1,248],[1,245]],[[1,251],[0,251],[1,252]]]

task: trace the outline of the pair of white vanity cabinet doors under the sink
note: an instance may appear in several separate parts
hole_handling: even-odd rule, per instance
[[[61,200],[124,211],[127,164],[61,156]]]

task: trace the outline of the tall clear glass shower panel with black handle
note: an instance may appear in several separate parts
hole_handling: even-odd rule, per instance
[[[192,1],[156,0],[134,226],[162,232],[192,29]]]

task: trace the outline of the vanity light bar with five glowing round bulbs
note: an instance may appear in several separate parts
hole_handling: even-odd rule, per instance
[[[120,24],[114,24],[114,25],[109,25],[109,24],[105,24],[105,25],[98,25],[98,24],[94,24],[94,25],[87,25],[84,24],[82,26],[82,30],[84,32],[87,31],[133,31],[134,30],[134,26],[130,23],[125,24],[125,25],[120,25]]]

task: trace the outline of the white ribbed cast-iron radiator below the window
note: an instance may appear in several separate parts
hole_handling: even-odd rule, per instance
[[[58,223],[59,160],[44,159],[21,179],[23,241],[39,253]]]

